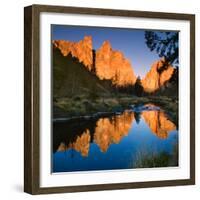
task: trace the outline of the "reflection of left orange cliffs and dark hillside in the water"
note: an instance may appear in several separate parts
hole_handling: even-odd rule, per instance
[[[54,152],[74,149],[82,156],[87,156],[91,142],[106,152],[112,143],[119,143],[129,133],[133,120],[133,112],[123,112],[121,115],[91,121],[55,123],[54,128],[59,135],[54,134]]]

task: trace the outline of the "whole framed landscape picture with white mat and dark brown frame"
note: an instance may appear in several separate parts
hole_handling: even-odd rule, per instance
[[[195,16],[24,9],[24,191],[195,184]]]

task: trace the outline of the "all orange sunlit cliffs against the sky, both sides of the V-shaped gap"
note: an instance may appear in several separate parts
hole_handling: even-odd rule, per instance
[[[129,86],[136,82],[131,62],[119,50],[113,50],[109,41],[104,41],[96,51],[93,50],[92,37],[85,36],[79,42],[54,40],[53,47],[63,56],[71,54],[83,63],[88,71],[94,72],[100,80],[111,80],[115,86]],[[156,61],[142,79],[145,92],[152,93],[170,80],[174,68],[164,59]]]

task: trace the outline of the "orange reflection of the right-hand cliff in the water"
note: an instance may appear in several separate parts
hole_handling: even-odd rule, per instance
[[[151,131],[161,139],[166,139],[170,131],[176,130],[176,125],[162,111],[144,111],[142,117]]]

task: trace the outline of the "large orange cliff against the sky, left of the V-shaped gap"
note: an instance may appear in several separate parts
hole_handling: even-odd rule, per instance
[[[103,42],[96,53],[93,51],[91,36],[85,36],[79,42],[54,40],[53,47],[58,48],[63,56],[71,54],[76,57],[101,80],[111,80],[116,86],[133,85],[136,81],[130,61],[122,52],[113,50],[109,41]]]

